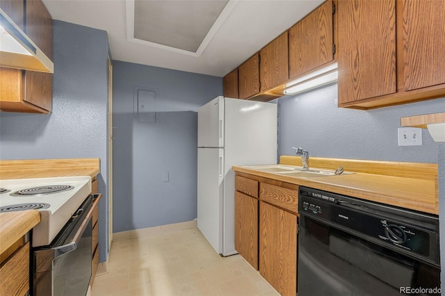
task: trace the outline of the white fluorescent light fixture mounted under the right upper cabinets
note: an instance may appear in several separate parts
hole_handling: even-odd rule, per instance
[[[300,77],[286,85],[284,94],[297,94],[334,83],[339,78],[337,63]]]

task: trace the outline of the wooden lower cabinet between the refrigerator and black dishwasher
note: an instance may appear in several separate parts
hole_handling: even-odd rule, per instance
[[[283,296],[297,293],[298,185],[235,176],[235,249]]]

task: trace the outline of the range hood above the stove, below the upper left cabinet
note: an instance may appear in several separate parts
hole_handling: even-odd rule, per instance
[[[1,8],[0,67],[54,73],[54,63]]]

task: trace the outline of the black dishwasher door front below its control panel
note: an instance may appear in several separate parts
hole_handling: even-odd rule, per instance
[[[440,294],[439,268],[302,213],[298,240],[298,296]]]

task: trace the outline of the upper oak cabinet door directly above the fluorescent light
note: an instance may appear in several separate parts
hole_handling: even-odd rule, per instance
[[[289,30],[289,78],[333,60],[333,40],[329,0]]]

